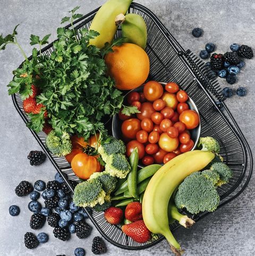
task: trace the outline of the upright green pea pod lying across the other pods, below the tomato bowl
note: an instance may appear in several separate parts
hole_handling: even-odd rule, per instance
[[[134,199],[139,199],[138,189],[137,189],[137,165],[138,165],[138,148],[135,147],[130,155],[129,163],[131,166],[131,171],[128,174],[128,187],[129,193]]]

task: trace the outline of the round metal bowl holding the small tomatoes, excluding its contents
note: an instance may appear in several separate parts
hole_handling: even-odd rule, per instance
[[[165,87],[166,82],[160,82],[160,84],[162,84],[163,87]],[[129,93],[130,92],[139,92],[140,93],[140,92],[143,91],[144,86],[145,85],[141,85],[141,86],[139,86],[139,87],[137,87],[133,90],[130,90]],[[126,95],[124,97],[124,104],[127,104]],[[194,150],[196,148],[197,144],[198,144],[198,139],[200,137],[200,131],[201,131],[200,115],[199,115],[198,108],[197,108],[196,104],[192,101],[192,99],[190,97],[189,97],[188,101],[186,101],[186,103],[189,105],[190,109],[196,111],[198,113],[198,116],[199,116],[199,125],[196,128],[190,130],[190,135],[191,135],[191,138],[194,142],[194,146],[192,147],[191,150]],[[118,118],[118,114],[115,114],[114,117],[113,117],[112,133],[113,133],[113,136],[117,139],[123,139],[122,138],[122,133],[121,133],[121,125],[122,125],[122,121]],[[145,165],[142,164],[141,161],[139,161],[138,166],[140,168],[145,167]]]

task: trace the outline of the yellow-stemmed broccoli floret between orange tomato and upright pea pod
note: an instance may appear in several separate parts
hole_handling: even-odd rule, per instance
[[[118,177],[120,179],[125,178],[130,170],[130,164],[123,154],[110,155],[105,166],[105,171],[109,175]]]

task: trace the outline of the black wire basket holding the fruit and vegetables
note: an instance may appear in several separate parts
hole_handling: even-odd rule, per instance
[[[96,12],[92,11],[75,22],[78,29],[89,28]],[[233,170],[233,178],[230,183],[218,188],[220,195],[219,207],[239,196],[248,185],[252,174],[252,154],[250,147],[244,138],[242,131],[238,127],[232,114],[224,104],[225,98],[221,94],[220,86],[213,73],[200,59],[191,53],[190,50],[184,51],[182,46],[176,41],[166,27],[159,21],[157,16],[146,7],[132,3],[130,13],[140,14],[147,24],[148,42],[146,52],[150,59],[150,80],[174,81],[184,89],[196,103],[201,118],[201,136],[212,136],[220,143],[220,155],[224,162]],[[66,26],[66,28],[69,28]],[[117,30],[116,37],[121,36],[121,29]],[[50,54],[53,51],[53,43],[45,47],[43,54]],[[29,121],[27,114],[23,110],[22,100],[19,94],[12,95],[16,110],[21,115],[25,123]],[[111,129],[109,129],[111,130]],[[31,133],[37,139],[40,146],[48,155],[56,170],[62,175],[69,185],[73,188],[69,180],[77,180],[70,164],[65,158],[56,157],[51,154],[45,146],[46,135],[43,132]],[[111,225],[106,222],[104,212],[93,211],[88,213],[91,221],[97,227],[101,235],[110,243],[128,250],[140,250],[153,246],[163,240],[163,236],[158,236],[154,241],[139,244],[126,236],[120,226]],[[203,212],[189,217],[198,221],[205,217],[209,212]],[[177,221],[171,225],[171,230],[179,227]]]

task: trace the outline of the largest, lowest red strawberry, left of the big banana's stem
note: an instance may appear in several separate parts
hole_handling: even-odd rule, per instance
[[[122,231],[130,236],[135,242],[146,243],[151,238],[150,230],[145,226],[143,220],[135,221],[122,226]]]

